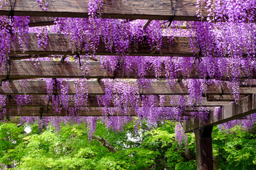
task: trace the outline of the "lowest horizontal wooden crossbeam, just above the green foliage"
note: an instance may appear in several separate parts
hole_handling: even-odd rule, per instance
[[[31,108],[21,108],[20,111],[18,111],[17,108],[6,108],[6,116],[66,116],[68,115],[68,111],[65,111],[64,109],[61,110],[60,114],[56,114],[53,111],[53,108],[46,108],[46,107],[31,107]],[[213,110],[213,108],[210,108],[210,110]],[[191,112],[198,112],[198,110],[193,109],[187,109],[184,111],[183,115],[189,116]],[[89,111],[86,109],[80,109],[78,112],[79,116],[103,116],[101,108],[99,107],[90,107]],[[124,115],[123,113],[113,113],[112,116],[121,116]],[[134,110],[129,111],[129,113],[125,116],[136,116],[134,113]]]

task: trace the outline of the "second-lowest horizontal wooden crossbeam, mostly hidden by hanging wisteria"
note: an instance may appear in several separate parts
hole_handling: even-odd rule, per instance
[[[97,102],[97,97],[101,97],[101,96],[88,96],[88,100],[87,100],[87,106],[88,107],[98,107],[99,104]],[[159,96],[156,96],[156,105],[159,106]],[[48,100],[48,98],[44,97],[44,96],[31,96],[30,97],[31,99],[31,102],[28,102],[26,105],[24,105],[24,107],[46,107],[46,106],[53,106],[53,103],[52,103],[52,100],[51,98]],[[203,103],[201,104],[195,104],[193,106],[205,106],[205,107],[208,107],[208,106],[223,106],[227,104],[227,102],[223,102],[223,101],[213,101],[213,102],[209,102],[209,101],[206,101],[206,98],[204,98],[204,101]],[[75,101],[70,98],[68,100],[68,105],[70,107],[74,107],[75,106]],[[7,98],[6,100],[6,105],[4,106],[4,108],[16,108],[18,105],[16,103],[16,99],[14,97],[10,97]],[[110,104],[110,106],[114,106],[113,103]],[[165,107],[171,107],[171,106],[178,106],[178,103],[175,101],[175,102],[172,102],[171,103],[171,100],[170,100],[170,96],[169,95],[166,95],[165,96],[165,101],[164,101],[164,106]],[[186,106],[189,106],[189,104],[187,103]]]

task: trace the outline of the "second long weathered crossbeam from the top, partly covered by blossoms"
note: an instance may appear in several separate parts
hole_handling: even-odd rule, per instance
[[[38,38],[35,33],[30,33],[28,37],[28,50],[25,54],[28,55],[76,55],[75,48],[70,47],[70,39],[64,35],[58,34],[48,34],[48,45],[46,50],[41,50],[38,48]],[[191,52],[190,40],[188,37],[174,37],[173,43],[168,40],[168,38],[163,38],[163,44],[161,50],[152,51],[149,45],[130,45],[129,55],[132,56],[175,56],[175,57],[193,57],[193,52]],[[11,54],[23,54],[20,47],[11,47]],[[92,52],[82,50],[80,55],[87,55]],[[97,47],[96,55],[116,55],[116,52],[112,50],[107,50],[104,42],[100,42]]]

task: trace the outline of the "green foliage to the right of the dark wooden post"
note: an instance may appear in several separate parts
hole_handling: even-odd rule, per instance
[[[227,134],[213,131],[213,154],[220,169],[256,169],[256,127],[249,132],[235,127]]]

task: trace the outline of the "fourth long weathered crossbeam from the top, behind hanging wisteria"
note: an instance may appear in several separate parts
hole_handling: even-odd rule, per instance
[[[27,81],[26,89],[24,89],[19,81],[11,81],[6,89],[2,86],[0,88],[0,94],[13,95],[13,94],[30,94],[30,95],[45,95],[46,81],[32,80]],[[129,81],[129,84],[137,86],[134,81]],[[87,81],[88,94],[89,95],[103,95],[105,94],[105,86],[102,81]],[[240,87],[240,94],[255,94],[256,88],[250,86]],[[68,94],[75,94],[74,81],[69,81]],[[156,95],[186,95],[189,94],[188,88],[182,83],[176,84],[176,86],[170,87],[166,81],[153,81],[151,82],[151,89],[139,89],[139,94],[156,94]],[[232,94],[232,90],[228,89],[227,86],[208,86],[206,94]]]

